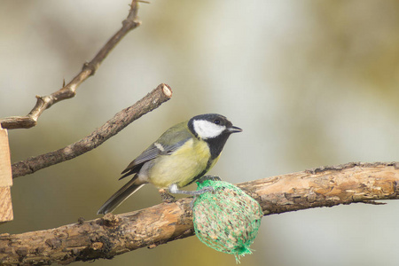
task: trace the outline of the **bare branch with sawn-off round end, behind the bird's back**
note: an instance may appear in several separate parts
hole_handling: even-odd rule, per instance
[[[116,135],[121,129],[124,129],[132,121],[137,120],[145,113],[153,111],[162,103],[172,97],[172,90],[167,84],[161,83],[145,98],[139,100],[133,106],[129,106],[121,112],[116,113],[113,118],[93,131],[89,136],[83,137],[74,144],[67,145],[57,151],[44,153],[27,160],[21,160],[12,164],[12,177],[25,176],[33,174],[35,171],[50,167],[65,160],[74,159],[83,153],[90,152],[92,149],[103,144],[108,138]]]

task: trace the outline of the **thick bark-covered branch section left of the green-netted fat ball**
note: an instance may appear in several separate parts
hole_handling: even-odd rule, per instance
[[[191,200],[160,204],[124,215],[68,224],[46,231],[0,235],[0,263],[67,264],[110,259],[144,246],[192,235]]]

